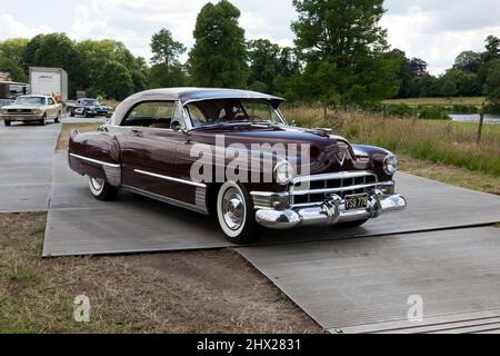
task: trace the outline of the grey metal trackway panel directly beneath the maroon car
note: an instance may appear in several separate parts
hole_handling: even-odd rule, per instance
[[[406,174],[398,175],[398,187],[409,200],[406,211],[382,216],[356,229],[269,230],[260,243],[330,240],[500,221],[500,197]],[[87,180],[68,168],[66,156],[56,158],[43,256],[230,246],[209,217],[131,194],[122,194],[113,202],[93,199]]]

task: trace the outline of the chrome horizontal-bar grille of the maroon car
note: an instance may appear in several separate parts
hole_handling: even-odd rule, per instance
[[[339,172],[300,177],[291,188],[292,206],[323,204],[328,196],[336,194],[342,199],[350,195],[370,192],[378,186],[378,178],[372,172]]]

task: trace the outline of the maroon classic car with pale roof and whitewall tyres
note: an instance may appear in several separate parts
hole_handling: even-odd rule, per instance
[[[406,208],[391,152],[291,127],[282,102],[230,89],[140,92],[99,131],[71,134],[69,165],[100,200],[126,189],[210,214],[234,244],[262,227],[356,227]]]

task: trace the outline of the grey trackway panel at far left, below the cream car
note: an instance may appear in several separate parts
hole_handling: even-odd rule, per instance
[[[47,211],[61,126],[0,125],[0,212]]]

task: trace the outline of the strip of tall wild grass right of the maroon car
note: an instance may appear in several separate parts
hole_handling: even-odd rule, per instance
[[[500,177],[500,125],[486,125],[478,146],[478,125],[473,122],[400,119],[361,111],[329,111],[324,120],[319,108],[283,111],[298,126],[332,128],[352,142]]]

